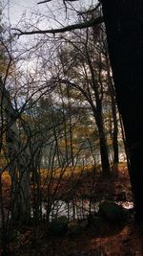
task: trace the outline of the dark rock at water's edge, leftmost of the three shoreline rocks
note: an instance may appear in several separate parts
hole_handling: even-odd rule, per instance
[[[51,221],[48,233],[54,236],[61,236],[67,231],[68,219],[66,216],[60,216]]]

